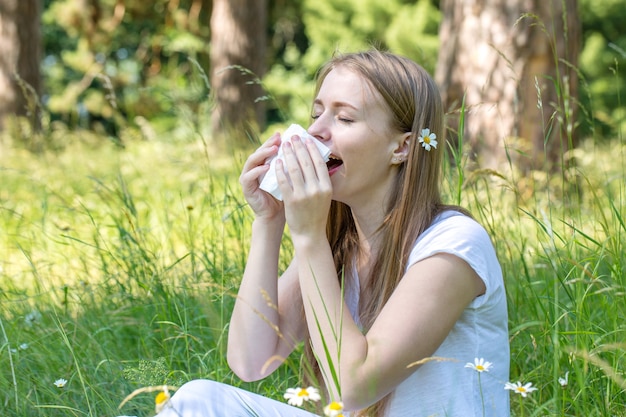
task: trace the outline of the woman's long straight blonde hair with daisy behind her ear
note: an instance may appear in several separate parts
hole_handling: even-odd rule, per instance
[[[404,275],[415,241],[435,216],[448,208],[442,204],[439,187],[446,146],[443,107],[435,82],[420,65],[376,49],[335,55],[317,75],[316,95],[325,77],[337,67],[363,77],[388,106],[392,128],[411,132],[408,158],[398,169],[379,230],[381,247],[359,301],[360,321],[367,332]],[[437,135],[437,149],[430,152],[418,141],[420,132],[426,128]],[[327,236],[341,279],[343,271],[351,271],[359,248],[356,226],[347,205],[332,202]],[[315,379],[321,381],[310,343],[305,343],[305,357],[315,368]],[[388,400],[389,396],[381,399],[361,415],[382,416]]]

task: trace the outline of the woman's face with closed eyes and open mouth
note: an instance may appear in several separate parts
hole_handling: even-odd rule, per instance
[[[334,68],[313,102],[309,134],[331,151],[333,199],[351,207],[382,204],[397,170],[394,152],[407,134],[391,128],[380,94],[356,72]]]

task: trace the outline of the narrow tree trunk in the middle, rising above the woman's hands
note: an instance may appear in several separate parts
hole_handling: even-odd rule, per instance
[[[226,148],[249,146],[265,124],[266,22],[267,0],[213,0],[211,123],[214,139]]]

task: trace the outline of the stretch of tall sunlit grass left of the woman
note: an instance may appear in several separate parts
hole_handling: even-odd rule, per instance
[[[237,169],[212,162],[199,144],[2,154],[0,415],[149,415],[152,397],[117,406],[145,385],[240,384],[224,337],[250,216]]]

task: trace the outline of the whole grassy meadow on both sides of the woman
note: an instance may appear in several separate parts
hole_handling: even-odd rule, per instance
[[[281,400],[300,384],[297,354],[247,384],[225,361],[252,220],[243,153],[158,139],[1,150],[0,415],[145,417],[146,387],[199,377]],[[626,143],[589,139],[567,158],[565,175],[461,158],[444,188],[503,267],[510,382],[537,388],[511,393],[512,414],[626,416]]]

